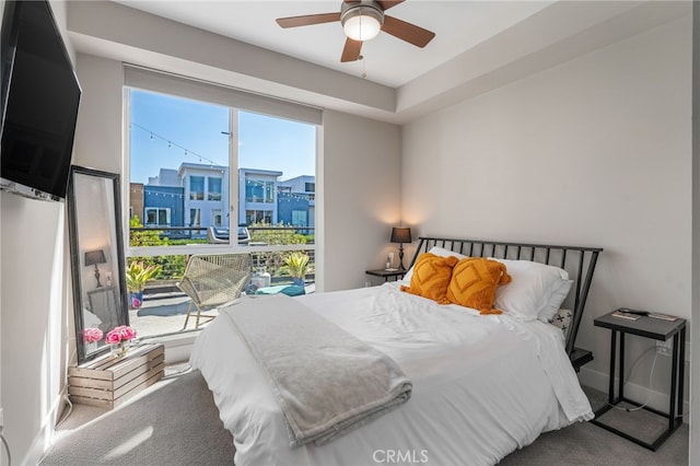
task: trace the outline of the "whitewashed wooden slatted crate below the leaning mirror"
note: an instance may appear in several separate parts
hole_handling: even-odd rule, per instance
[[[68,394],[73,403],[112,409],[158,382],[164,368],[163,345],[141,345],[124,358],[105,354],[68,368]]]

